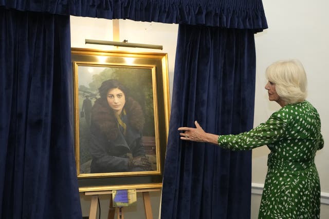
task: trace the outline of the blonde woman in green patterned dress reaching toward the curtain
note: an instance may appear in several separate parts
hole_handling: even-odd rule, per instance
[[[307,101],[306,74],[299,61],[280,61],[266,69],[265,89],[282,108],[254,129],[237,135],[215,135],[181,127],[180,138],[230,150],[267,145],[266,175],[259,218],[320,218],[320,182],[314,163],[323,147],[317,110]]]

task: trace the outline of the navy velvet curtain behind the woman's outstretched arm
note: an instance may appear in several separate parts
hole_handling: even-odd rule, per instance
[[[179,25],[161,218],[250,218],[251,151],[184,142],[177,128],[250,130],[254,84],[252,30]]]

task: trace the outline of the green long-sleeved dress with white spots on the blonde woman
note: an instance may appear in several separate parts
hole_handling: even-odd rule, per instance
[[[317,110],[307,101],[286,105],[258,127],[221,135],[218,145],[249,150],[267,145],[268,171],[258,218],[320,218],[320,182],[314,163],[323,147]]]

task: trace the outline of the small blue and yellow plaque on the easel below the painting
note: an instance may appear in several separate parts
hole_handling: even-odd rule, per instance
[[[112,190],[113,207],[126,207],[136,204],[136,189]]]

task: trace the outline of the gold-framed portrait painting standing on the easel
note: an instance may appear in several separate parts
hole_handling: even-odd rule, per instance
[[[167,53],[71,48],[71,65],[80,190],[161,185],[170,115]],[[124,92],[107,89],[114,81]],[[112,91],[123,93],[122,108],[111,102]]]

